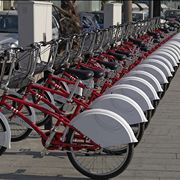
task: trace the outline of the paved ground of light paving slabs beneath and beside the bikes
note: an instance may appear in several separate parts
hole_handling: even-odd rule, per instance
[[[114,180],[180,179],[180,69],[124,173]],[[85,180],[64,154],[40,158],[39,138],[13,143],[0,157],[0,179]]]

